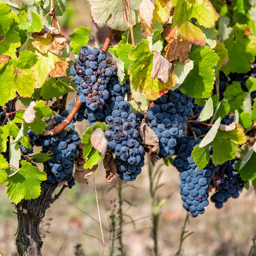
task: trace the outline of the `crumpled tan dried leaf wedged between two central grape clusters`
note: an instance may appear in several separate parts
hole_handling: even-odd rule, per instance
[[[148,145],[148,148],[150,149],[149,154],[158,153],[159,139],[157,137],[157,134],[155,134],[154,131],[151,128],[149,128],[145,122],[142,123],[137,129],[140,133],[142,143]]]

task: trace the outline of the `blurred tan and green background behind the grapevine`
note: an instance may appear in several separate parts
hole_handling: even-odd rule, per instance
[[[15,3],[21,4],[16,0]],[[58,22],[67,41],[70,40],[68,35],[79,26],[88,26],[93,30],[92,38],[96,46],[103,44],[108,33],[108,28],[93,23],[87,1],[69,0],[67,12],[58,18]],[[115,35],[112,44],[118,39],[119,35]],[[92,44],[92,41],[89,43]],[[68,104],[74,98],[76,93],[70,93]],[[80,135],[86,127],[85,122],[76,122]],[[160,175],[155,191],[151,186],[154,174]],[[108,242],[105,247],[99,241],[102,241],[102,234],[96,194],[93,177],[89,177],[88,184],[76,183],[72,189],[66,189],[47,209],[40,227],[44,241],[42,255],[155,256],[153,234],[154,227],[158,225],[157,255],[175,256],[179,251],[181,229],[187,213],[182,207],[179,173],[174,167],[165,166],[160,160],[153,168],[146,157],[143,172],[134,182],[121,182],[116,177],[108,184],[105,171],[99,169],[95,183],[105,243],[120,233],[125,234]],[[59,190],[56,189],[56,194]],[[0,186],[0,195],[0,253],[14,256],[17,255],[15,207],[3,186]],[[157,211],[159,202],[163,206],[153,220],[152,212]],[[222,209],[215,209],[210,202],[203,215],[189,217],[185,230],[193,234],[183,241],[178,255],[247,256],[253,245],[255,224],[256,196],[250,186],[249,190],[243,190],[239,198],[229,199]]]

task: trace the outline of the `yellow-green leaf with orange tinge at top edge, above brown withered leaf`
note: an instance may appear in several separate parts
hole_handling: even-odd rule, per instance
[[[205,37],[203,32],[189,21],[193,17],[198,20],[201,26],[211,28],[220,16],[209,0],[177,1],[173,16],[173,28],[178,25],[180,35],[193,44],[204,45]]]

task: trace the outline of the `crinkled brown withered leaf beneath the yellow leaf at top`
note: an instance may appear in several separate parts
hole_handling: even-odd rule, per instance
[[[172,29],[172,24],[167,24],[164,26],[163,36],[169,43],[164,48],[164,57],[170,62],[179,57],[180,63],[183,64],[184,61],[189,57],[192,44],[186,39],[180,38],[177,31],[177,25],[174,27],[174,29]]]

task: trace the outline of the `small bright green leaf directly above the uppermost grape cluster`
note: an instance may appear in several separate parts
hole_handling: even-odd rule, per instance
[[[71,51],[73,54],[78,54],[81,46],[86,46],[90,39],[90,28],[85,28],[83,26],[79,26],[78,29],[75,29],[72,34],[69,35],[71,41]]]

